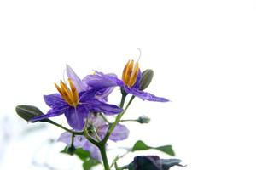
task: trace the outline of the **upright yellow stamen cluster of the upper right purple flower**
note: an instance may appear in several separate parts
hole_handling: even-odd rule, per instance
[[[138,62],[134,65],[133,60],[129,60],[124,68],[123,71],[123,82],[125,82],[125,85],[127,85],[129,88],[131,88],[136,80],[137,80],[137,75],[139,73],[139,65]]]

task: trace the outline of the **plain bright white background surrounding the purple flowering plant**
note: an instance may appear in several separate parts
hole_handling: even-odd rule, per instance
[[[15,115],[15,105],[47,111],[42,95],[55,92],[66,64],[80,77],[92,70],[120,76],[141,48],[141,68],[155,73],[147,91],[172,102],[135,100],[126,116],[152,122],[127,123],[131,139],[124,144],[172,144],[188,165],[172,169],[256,169],[255,21],[253,0],[2,0],[0,168],[44,169],[31,165],[32,156],[61,133],[46,126],[23,136],[34,125]],[[50,165],[75,161],[56,145]],[[63,169],[76,169],[68,165]]]

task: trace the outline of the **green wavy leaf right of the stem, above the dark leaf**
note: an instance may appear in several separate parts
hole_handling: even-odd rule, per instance
[[[142,140],[138,140],[132,147],[131,151],[137,151],[137,150],[160,150],[170,156],[175,156],[174,150],[172,150],[172,145],[164,145],[164,146],[158,146],[158,147],[152,147],[145,144]]]

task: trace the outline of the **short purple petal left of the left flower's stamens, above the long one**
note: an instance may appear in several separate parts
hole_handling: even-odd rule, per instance
[[[62,99],[61,94],[44,95],[44,101],[51,108],[67,106],[67,103]]]

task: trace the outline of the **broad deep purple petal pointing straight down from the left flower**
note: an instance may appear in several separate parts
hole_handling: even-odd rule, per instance
[[[69,107],[65,112],[68,124],[75,130],[82,130],[84,128],[84,119],[88,114],[88,109],[83,105]]]

